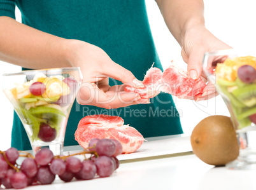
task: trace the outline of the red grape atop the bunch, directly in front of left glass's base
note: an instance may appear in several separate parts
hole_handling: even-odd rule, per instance
[[[43,148],[35,155],[36,163],[41,166],[48,165],[53,159],[53,153],[48,148]]]

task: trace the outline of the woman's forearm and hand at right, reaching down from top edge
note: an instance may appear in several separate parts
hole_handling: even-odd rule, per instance
[[[188,64],[188,76],[199,78],[202,74],[203,55],[206,51],[231,48],[204,27],[203,0],[155,0],[164,17],[167,27],[181,46],[181,55]],[[203,95],[194,100],[215,97],[217,92],[211,83],[204,88]]]

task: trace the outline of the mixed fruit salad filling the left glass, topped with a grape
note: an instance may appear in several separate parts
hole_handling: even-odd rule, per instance
[[[76,84],[75,79],[68,76],[45,76],[39,72],[31,80],[4,90],[32,144],[42,146],[62,136],[60,128],[66,126]]]

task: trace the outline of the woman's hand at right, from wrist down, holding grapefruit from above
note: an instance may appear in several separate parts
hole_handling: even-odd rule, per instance
[[[225,50],[230,48],[231,46],[213,36],[204,25],[194,25],[193,27],[190,27],[190,29],[185,31],[181,42],[181,55],[183,60],[188,64],[188,76],[192,79],[197,79],[200,76],[206,78],[202,73],[204,53],[207,51]],[[200,101],[213,98],[216,95],[218,95],[218,93],[216,92],[215,86],[208,83],[203,90],[203,95],[197,95],[193,98],[196,101]]]

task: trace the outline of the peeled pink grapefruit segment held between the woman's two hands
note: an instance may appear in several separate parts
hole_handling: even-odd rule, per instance
[[[187,72],[174,65],[170,65],[164,72],[151,67],[146,72],[143,84],[144,88],[125,86],[124,90],[139,93],[141,98],[153,98],[160,92],[170,93],[178,98],[189,98],[203,93],[206,86],[202,78],[191,79]]]

